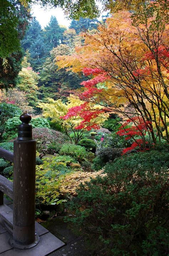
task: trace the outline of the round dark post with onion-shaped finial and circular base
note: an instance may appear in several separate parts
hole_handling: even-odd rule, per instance
[[[14,141],[14,220],[10,243],[27,249],[39,242],[35,234],[36,142],[32,139],[31,116],[20,116],[18,138]]]

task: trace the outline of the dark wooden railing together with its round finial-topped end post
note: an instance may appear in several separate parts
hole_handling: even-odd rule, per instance
[[[28,249],[39,242],[35,234],[36,142],[29,124],[31,116],[25,112],[20,120],[14,153],[0,148],[0,157],[14,163],[13,183],[0,175],[0,224],[12,234],[12,247]],[[4,194],[13,199],[13,213],[4,205]]]

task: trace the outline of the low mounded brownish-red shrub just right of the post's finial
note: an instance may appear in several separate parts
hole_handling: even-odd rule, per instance
[[[46,149],[49,144],[53,143],[65,143],[68,138],[61,132],[48,128],[33,128],[33,138],[36,140],[37,150]]]

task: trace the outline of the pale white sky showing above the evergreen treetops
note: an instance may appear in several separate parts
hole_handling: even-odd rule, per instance
[[[32,16],[35,16],[36,19],[41,24],[42,29],[49,23],[51,15],[55,16],[59,25],[64,25],[68,28],[71,23],[71,20],[68,20],[63,12],[63,10],[59,7],[57,8],[42,8],[40,5],[32,6]],[[105,15],[107,12],[103,12],[101,15]],[[100,20],[100,19],[98,19]]]

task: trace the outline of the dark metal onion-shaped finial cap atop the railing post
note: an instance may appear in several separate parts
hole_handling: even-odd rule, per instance
[[[18,138],[19,140],[32,140],[32,126],[29,124],[32,117],[25,111],[20,116],[22,124],[18,127]]]

